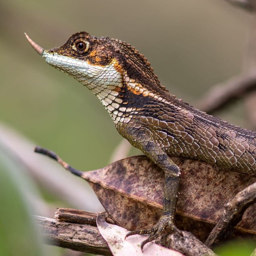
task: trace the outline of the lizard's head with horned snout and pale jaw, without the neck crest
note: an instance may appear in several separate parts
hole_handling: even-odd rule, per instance
[[[95,94],[109,86],[120,86],[115,48],[108,38],[96,38],[87,32],[73,34],[62,46],[44,50],[27,35],[33,48],[54,68],[74,77]]]

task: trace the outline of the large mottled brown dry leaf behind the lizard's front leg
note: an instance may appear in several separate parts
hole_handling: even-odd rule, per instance
[[[205,240],[224,206],[256,177],[214,169],[201,161],[172,158],[181,169],[178,228]],[[113,220],[128,230],[153,226],[162,211],[164,173],[145,156],[133,156],[102,169],[84,172]],[[256,205],[238,224],[238,233],[256,235]]]

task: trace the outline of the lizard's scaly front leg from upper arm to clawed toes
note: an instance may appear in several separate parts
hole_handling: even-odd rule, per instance
[[[164,152],[160,146],[150,140],[147,134],[142,134],[137,137],[137,142],[134,146],[140,148],[148,158],[157,164],[165,175],[164,196],[163,196],[163,212],[158,222],[149,229],[131,231],[126,234],[126,237],[134,234],[150,234],[141,244],[143,246],[156,239],[162,234],[166,234],[166,230],[172,230],[180,233],[180,230],[174,225],[174,215],[176,212],[176,204],[178,198],[178,187],[180,182],[180,169],[174,164],[171,158]]]

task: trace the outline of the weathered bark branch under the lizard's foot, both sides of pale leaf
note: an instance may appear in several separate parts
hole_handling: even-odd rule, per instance
[[[100,255],[112,255],[108,244],[96,227],[99,214],[82,210],[59,208],[55,218],[35,216],[45,242],[63,248]],[[214,256],[214,252],[193,234],[182,231],[183,237],[177,234],[164,236],[158,242],[188,256]]]

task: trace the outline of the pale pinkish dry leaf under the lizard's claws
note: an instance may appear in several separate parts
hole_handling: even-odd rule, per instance
[[[128,230],[120,226],[106,222],[104,214],[97,217],[97,227],[102,237],[108,243],[108,246],[114,256],[182,256],[180,252],[167,249],[154,242],[149,242],[144,246],[143,252],[140,244],[145,240],[144,236],[134,235],[124,239]],[[184,256],[184,255],[183,255]]]

